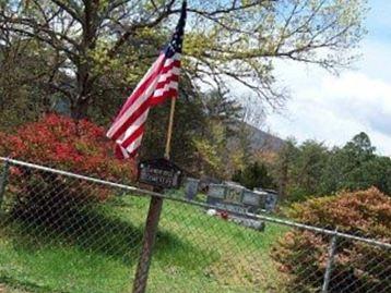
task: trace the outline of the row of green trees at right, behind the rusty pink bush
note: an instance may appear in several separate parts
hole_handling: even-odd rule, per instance
[[[287,141],[273,167],[280,193],[288,200],[358,191],[376,186],[391,194],[391,159],[376,155],[362,132],[343,147],[329,150],[322,143]]]

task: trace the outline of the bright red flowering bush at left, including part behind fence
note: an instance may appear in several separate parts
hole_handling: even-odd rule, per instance
[[[135,179],[134,160],[118,160],[103,127],[48,114],[14,133],[0,133],[0,155],[109,181]],[[19,218],[59,224],[57,218],[110,197],[104,185],[20,166],[11,167],[8,195]]]

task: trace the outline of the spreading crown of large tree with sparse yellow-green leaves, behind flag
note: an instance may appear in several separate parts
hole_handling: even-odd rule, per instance
[[[68,99],[74,117],[91,108],[107,114],[107,103],[117,108],[156,58],[180,2],[1,0],[0,34],[34,39],[51,56],[45,83]],[[347,65],[364,33],[364,2],[191,0],[183,78],[222,90],[236,82],[279,107],[286,94],[275,85],[274,61]]]

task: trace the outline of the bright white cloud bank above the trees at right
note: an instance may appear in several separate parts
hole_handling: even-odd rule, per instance
[[[339,77],[303,65],[280,66],[292,85],[293,99],[284,115],[272,114],[271,129],[299,141],[313,138],[327,145],[343,145],[365,131],[380,154],[391,155],[391,83],[363,71],[346,71]],[[391,69],[387,69],[391,74]]]

